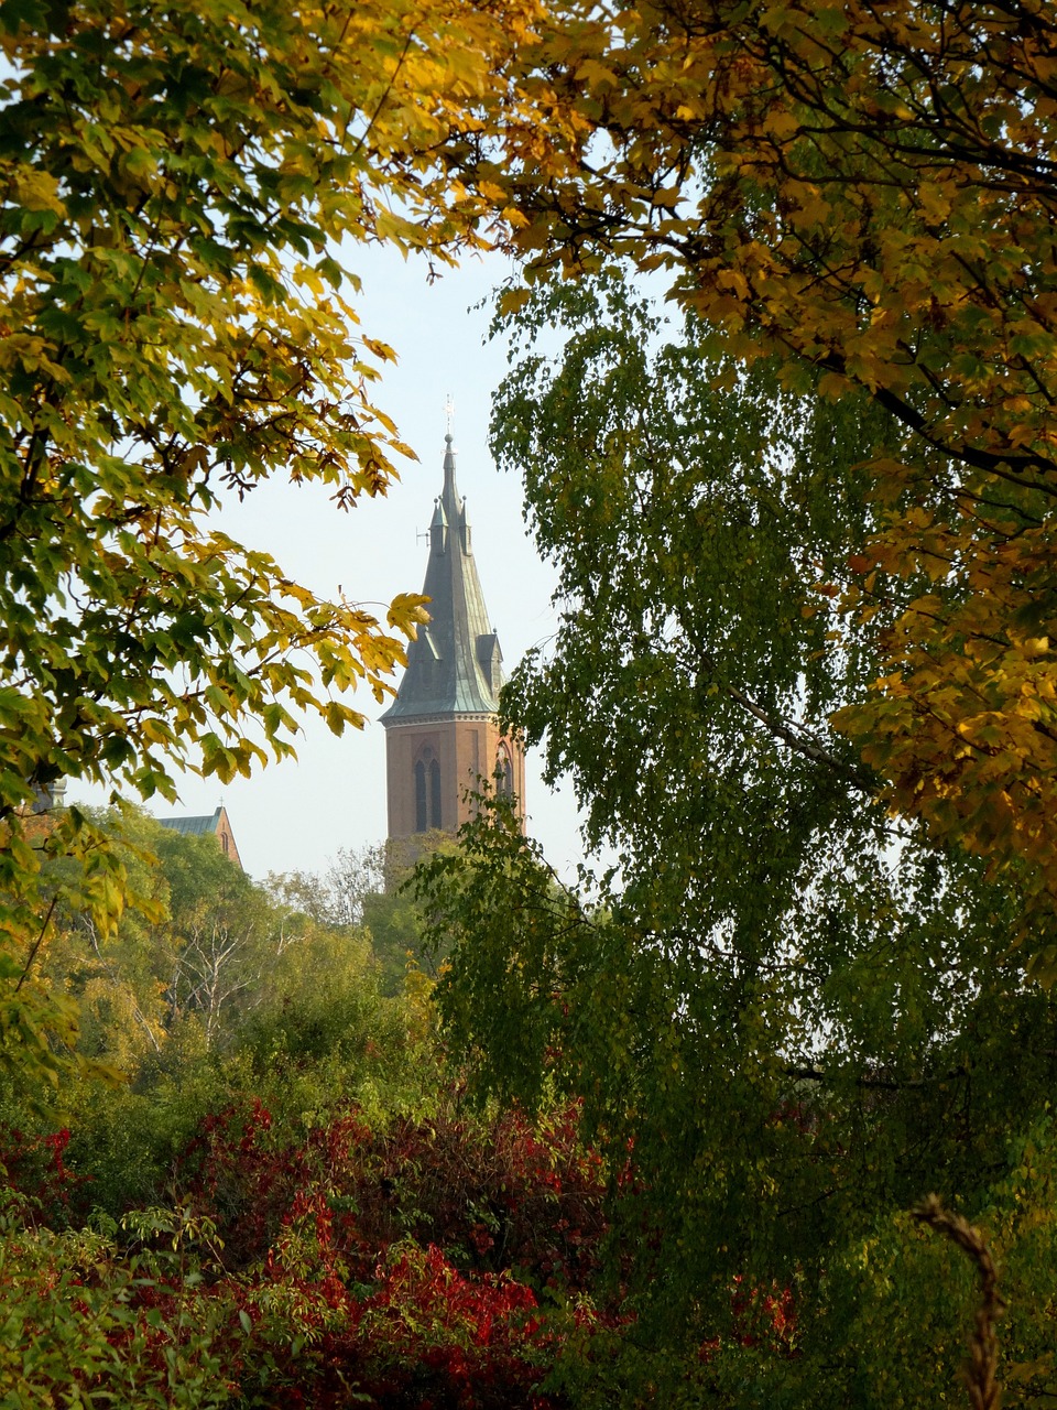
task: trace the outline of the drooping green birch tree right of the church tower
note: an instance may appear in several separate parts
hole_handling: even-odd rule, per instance
[[[1051,1149],[1057,1011],[1010,949],[1015,877],[894,819],[830,722],[886,626],[834,630],[816,585],[884,515],[863,446],[901,431],[867,396],[738,371],[613,276],[544,288],[516,331],[493,447],[524,477],[561,620],[503,708],[616,863],[555,887],[500,818],[427,871],[448,1042],[485,1093],[582,1100],[636,1393],[664,1375],[729,1404],[886,1404],[888,1373],[860,1372],[878,1338],[871,1365],[905,1345],[908,1403],[933,1403],[968,1304],[906,1211],[933,1190],[988,1211],[1013,1266],[1032,1220],[1053,1246],[1047,1186],[1018,1170],[1026,1142]],[[1039,1266],[1009,1331],[1025,1363],[1049,1337]],[[785,1287],[796,1359],[747,1297]]]

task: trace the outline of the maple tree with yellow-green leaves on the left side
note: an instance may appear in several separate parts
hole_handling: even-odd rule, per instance
[[[3,1059],[66,1025],[34,990],[55,897],[41,853],[85,862],[100,921],[120,862],[62,778],[172,798],[292,753],[299,712],[382,697],[421,599],[386,623],[324,601],[209,510],[266,475],[342,508],[409,454],[373,405],[393,357],[357,330],[358,241],[437,265],[486,244],[502,192],[445,144],[520,92],[500,75],[533,6],[72,0],[0,7],[0,1031]],[[68,897],[68,900],[70,900]],[[31,997],[35,993],[35,1018]],[[44,1025],[44,1026],[41,1026]]]

